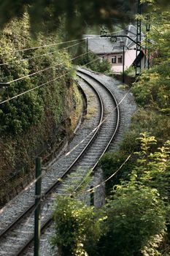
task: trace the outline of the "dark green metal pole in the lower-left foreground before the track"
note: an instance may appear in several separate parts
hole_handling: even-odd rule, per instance
[[[34,219],[34,256],[39,256],[39,244],[41,234],[41,162],[40,157],[36,158],[36,188],[35,188],[35,219]]]

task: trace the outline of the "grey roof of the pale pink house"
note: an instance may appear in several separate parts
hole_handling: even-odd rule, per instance
[[[128,25],[125,29],[115,32],[115,36],[128,36],[136,42],[136,27]],[[96,35],[85,35],[88,38],[88,49],[96,54],[121,53],[123,48],[120,47],[120,41],[124,42],[126,48],[136,45],[128,37],[117,37],[117,42],[112,42],[110,37],[100,37]],[[142,34],[142,40],[144,34]]]

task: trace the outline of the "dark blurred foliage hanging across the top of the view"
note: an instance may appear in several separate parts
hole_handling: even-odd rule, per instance
[[[10,10],[9,10],[10,6]],[[0,3],[0,24],[4,26],[14,17],[22,17],[28,10],[31,20],[31,31],[53,31],[64,17],[65,28],[69,37],[81,37],[85,32],[85,22],[88,25],[107,24],[112,26],[112,20],[121,22],[131,18],[134,2],[131,0],[104,0],[101,1],[12,1],[5,0]],[[43,26],[42,26],[43,24]]]

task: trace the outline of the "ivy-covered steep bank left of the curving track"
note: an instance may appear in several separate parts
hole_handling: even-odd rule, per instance
[[[1,31],[0,79],[10,82],[0,89],[0,101],[7,100],[0,105],[2,201],[7,191],[12,196],[22,188],[36,155],[44,158],[71,134],[82,106],[71,57],[64,50],[68,44],[59,48],[56,32],[33,39],[29,26],[26,13]],[[41,45],[50,46],[36,48]],[[23,95],[11,99],[18,94]]]

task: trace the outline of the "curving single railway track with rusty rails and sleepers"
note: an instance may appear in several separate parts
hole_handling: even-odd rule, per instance
[[[59,165],[53,164],[51,172],[48,173],[49,181],[47,181],[47,174],[42,179],[42,192],[45,196],[42,203],[42,230],[52,222],[55,195],[66,194],[70,186],[76,189],[90,168],[95,171],[98,159],[107,151],[119,127],[120,110],[112,92],[82,69],[77,70],[77,75],[84,80],[86,91],[90,90],[91,94],[95,94],[98,111],[96,111],[92,127],[88,129],[87,133],[90,132],[90,135],[85,136],[79,149],[72,151],[69,158],[63,158],[63,165],[62,161]],[[93,127],[97,128],[93,129]],[[56,172],[56,169],[60,171]],[[73,177],[69,176],[71,172],[75,173]],[[75,183],[76,176],[79,182],[77,184]],[[0,255],[22,255],[34,239],[34,216],[31,215],[34,210],[34,188],[31,187],[30,191],[28,197],[25,195],[18,197],[18,200],[24,201],[24,203],[21,202],[23,205],[20,208],[21,214],[16,214],[12,220],[7,219],[4,227],[1,228]]]

